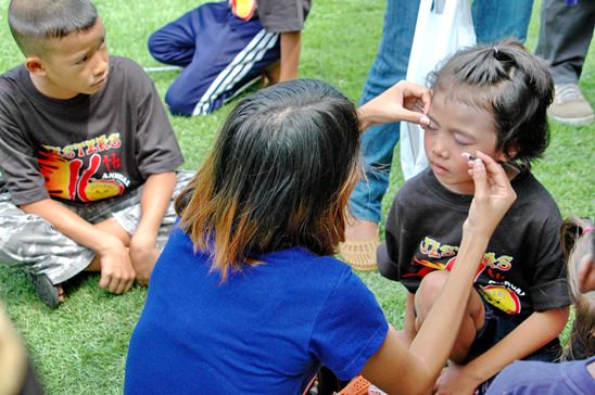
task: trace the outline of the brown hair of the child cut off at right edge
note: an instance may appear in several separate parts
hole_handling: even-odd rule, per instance
[[[568,285],[574,303],[574,322],[562,359],[585,359],[595,355],[595,291],[579,291],[579,264],[591,254],[595,256],[593,231],[585,232],[584,219],[569,218],[560,228],[564,255],[568,262]]]

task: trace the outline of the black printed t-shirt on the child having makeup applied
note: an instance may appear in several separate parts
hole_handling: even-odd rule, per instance
[[[509,315],[529,316],[570,304],[554,199],[529,171],[511,181],[517,193],[480,265],[476,289]],[[472,196],[445,189],[428,169],[406,182],[387,219],[378,250],[382,276],[415,293],[423,276],[455,264]]]

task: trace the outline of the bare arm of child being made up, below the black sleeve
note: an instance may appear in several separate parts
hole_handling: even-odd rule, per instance
[[[439,394],[472,394],[476,387],[554,340],[565,328],[569,307],[533,313],[492,348],[464,367],[448,368],[438,383]]]

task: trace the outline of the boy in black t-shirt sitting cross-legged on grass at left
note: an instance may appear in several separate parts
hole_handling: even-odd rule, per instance
[[[109,58],[90,1],[12,0],[9,24],[26,59],[0,76],[0,262],[50,307],[83,270],[145,284],[189,179],[152,81]]]

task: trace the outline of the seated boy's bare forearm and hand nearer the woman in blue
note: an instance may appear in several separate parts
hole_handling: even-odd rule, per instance
[[[130,240],[130,258],[139,283],[145,285],[157,260],[157,233],[176,187],[175,173],[151,175],[144,182],[140,200],[141,217]]]

